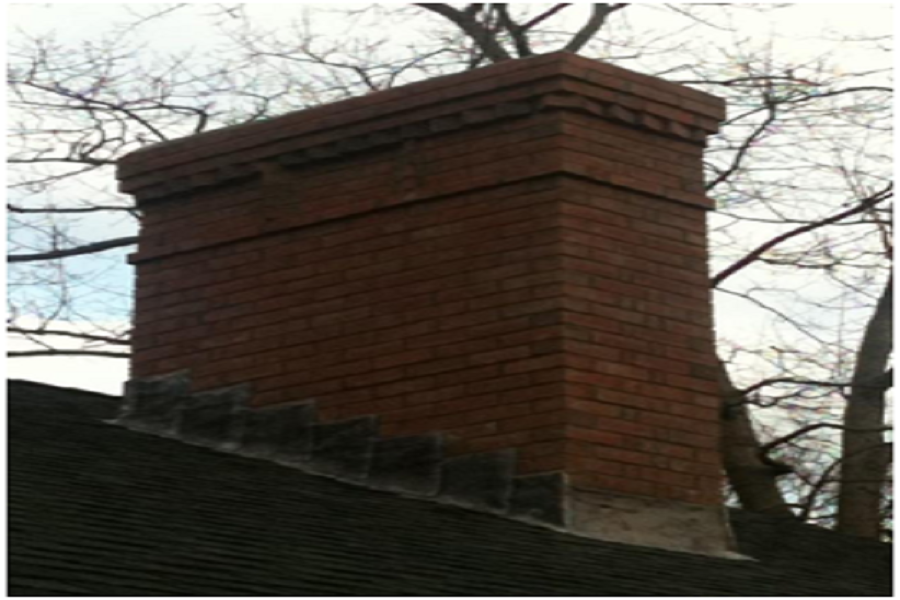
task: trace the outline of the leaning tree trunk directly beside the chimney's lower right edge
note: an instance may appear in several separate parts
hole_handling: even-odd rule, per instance
[[[755,512],[794,516],[776,481],[784,471],[763,461],[745,398],[731,383],[721,361],[719,368],[725,403],[722,411],[722,454],[728,480],[741,506]]]

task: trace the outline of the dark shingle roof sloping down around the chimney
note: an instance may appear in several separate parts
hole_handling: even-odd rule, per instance
[[[584,539],[129,431],[117,401],[11,382],[11,595],[891,595],[888,544],[740,511],[754,560]]]

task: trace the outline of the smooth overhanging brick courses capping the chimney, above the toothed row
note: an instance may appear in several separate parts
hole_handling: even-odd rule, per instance
[[[644,111],[651,119],[676,122],[670,129],[695,142],[714,133],[725,118],[725,102],[710,94],[570,52],[555,52],[160,142],[122,157],[117,177],[126,193],[144,187],[148,178],[163,178],[163,173],[170,181],[197,176],[217,180],[223,171],[248,161],[275,160],[337,142],[346,146],[348,138],[491,106],[507,97],[515,101],[553,92],[577,95],[573,82],[593,90],[610,107],[627,107],[625,112],[631,114],[626,120],[634,121],[635,111]],[[331,154],[338,153],[331,148]],[[155,174],[158,177],[152,177]]]

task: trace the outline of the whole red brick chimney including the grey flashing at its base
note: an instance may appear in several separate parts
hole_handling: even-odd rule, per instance
[[[728,555],[718,98],[568,53],[158,144],[120,422]]]

